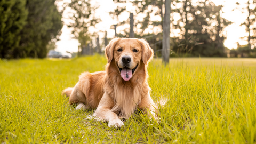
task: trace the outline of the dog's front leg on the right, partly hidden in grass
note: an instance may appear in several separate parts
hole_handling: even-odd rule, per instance
[[[148,93],[145,98],[141,99],[141,103],[139,104],[139,108],[145,111],[149,118],[154,118],[156,121],[159,121],[160,118],[157,117],[157,105],[150,97],[150,94]]]

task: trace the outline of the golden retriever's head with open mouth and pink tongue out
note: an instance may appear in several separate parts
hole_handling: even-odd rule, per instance
[[[124,81],[129,81],[140,65],[147,65],[153,50],[144,39],[115,38],[106,46],[108,63],[114,62]]]

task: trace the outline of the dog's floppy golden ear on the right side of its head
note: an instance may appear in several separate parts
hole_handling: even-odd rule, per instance
[[[145,65],[148,64],[148,62],[153,59],[154,51],[149,46],[148,42],[145,41],[145,39],[139,39],[140,45],[142,47],[142,61]]]

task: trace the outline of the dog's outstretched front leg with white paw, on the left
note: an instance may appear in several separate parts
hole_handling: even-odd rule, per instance
[[[95,110],[93,116],[105,121],[108,121],[108,127],[121,127],[124,123],[118,118],[117,114],[111,111],[114,107],[113,100],[105,92],[100,100],[98,108]]]

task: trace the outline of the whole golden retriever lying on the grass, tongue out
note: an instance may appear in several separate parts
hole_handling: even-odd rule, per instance
[[[144,39],[115,38],[106,46],[106,71],[82,73],[73,88],[63,91],[76,109],[95,109],[93,116],[121,127],[120,118],[129,118],[139,108],[158,119],[157,106],[150,97],[148,62],[153,50]]]

